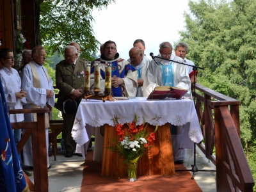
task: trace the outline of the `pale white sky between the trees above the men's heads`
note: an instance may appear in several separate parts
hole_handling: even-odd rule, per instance
[[[108,8],[93,10],[93,31],[101,44],[116,42],[121,58],[129,58],[134,40],[145,41],[145,54],[159,54],[161,42],[179,40],[178,31],[185,26],[184,12],[189,12],[189,0],[116,0]]]

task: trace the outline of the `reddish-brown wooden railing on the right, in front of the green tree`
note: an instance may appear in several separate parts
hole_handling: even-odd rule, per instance
[[[217,191],[253,191],[255,183],[240,141],[240,101],[200,84],[195,87],[203,94],[195,94],[204,135],[203,143],[197,145],[216,165]]]

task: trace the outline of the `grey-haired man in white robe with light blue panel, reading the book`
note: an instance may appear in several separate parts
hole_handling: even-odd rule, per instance
[[[159,45],[158,55],[161,58],[168,60],[183,62],[182,58],[174,56],[172,54],[172,44],[169,42],[163,42]],[[176,86],[179,88],[184,88],[190,90],[189,86],[191,81],[186,71],[185,65],[175,63],[168,60],[163,60],[156,58],[156,61],[150,61],[148,66],[146,79],[144,81],[142,92],[143,97],[148,97],[148,95],[154,90],[156,86]],[[191,97],[191,92],[187,93]],[[192,97],[191,97],[192,98]],[[172,130],[172,146],[173,146],[173,157],[175,163],[183,163],[186,159],[187,154],[182,148],[184,126],[170,126]],[[173,130],[179,131],[179,134],[173,134]]]

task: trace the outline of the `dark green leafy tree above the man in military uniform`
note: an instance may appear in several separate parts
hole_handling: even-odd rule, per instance
[[[100,10],[112,2],[115,0],[40,1],[40,38],[47,45],[47,52],[62,54],[66,45],[77,42],[81,57],[94,60],[91,55],[97,52],[99,41],[93,33],[92,9]]]

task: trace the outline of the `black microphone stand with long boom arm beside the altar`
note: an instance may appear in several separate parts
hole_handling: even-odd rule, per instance
[[[168,59],[166,59],[166,58],[161,58],[161,57],[159,57],[159,56],[154,56],[154,58],[159,58],[159,59],[162,59],[162,60],[168,60]],[[182,64],[182,65],[188,65],[188,66],[190,66],[190,67],[193,67],[193,72],[194,72],[194,83],[193,83],[194,90],[193,90],[193,96],[194,96],[194,104],[195,104],[195,106],[196,106],[196,70],[197,70],[198,68],[204,70],[204,68],[203,68],[203,67],[198,67],[198,66],[196,66],[196,65],[189,65],[189,64],[186,64],[186,63],[180,63],[179,61],[173,61],[173,60],[168,60],[168,61],[172,61],[172,62],[175,62],[175,63],[179,63],[179,64]],[[156,62],[156,61],[155,61],[155,62]],[[159,64],[157,63],[157,65],[159,65]],[[192,92],[192,90],[191,90],[191,92]],[[200,172],[216,172],[216,170],[198,170],[198,168],[197,168],[197,166],[196,166],[196,143],[195,143],[195,142],[194,142],[194,164],[191,164],[191,166],[192,166],[191,170],[175,170],[175,172],[182,172],[182,171],[183,171],[183,172],[184,172],[184,171],[190,172],[190,171],[191,171],[191,172],[193,173],[191,179],[194,179],[195,173],[198,172],[198,171],[200,171]]]

